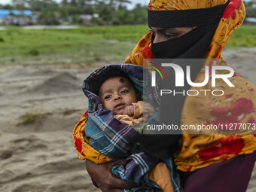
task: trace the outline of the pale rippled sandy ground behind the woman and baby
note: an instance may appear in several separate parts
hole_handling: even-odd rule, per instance
[[[256,48],[227,50],[224,56],[256,84]],[[0,67],[0,192],[99,191],[72,142],[73,127],[87,108],[81,84],[92,71]],[[23,125],[24,114],[38,121]],[[256,191],[256,169],[248,191]]]

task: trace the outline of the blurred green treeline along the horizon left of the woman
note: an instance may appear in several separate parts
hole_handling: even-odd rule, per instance
[[[12,0],[0,9],[31,10],[44,24],[126,25],[147,23],[147,8],[127,9],[129,0]]]

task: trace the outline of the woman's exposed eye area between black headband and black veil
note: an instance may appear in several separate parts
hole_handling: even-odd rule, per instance
[[[175,27],[175,28],[150,27],[150,28],[154,32],[154,41],[153,41],[154,44],[179,38],[193,29],[192,27]]]

